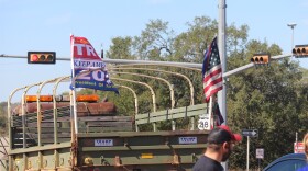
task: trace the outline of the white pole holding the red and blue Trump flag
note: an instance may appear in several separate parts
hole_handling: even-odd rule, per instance
[[[74,67],[74,44],[75,44],[75,38],[74,35],[70,35],[70,52],[72,52],[72,59],[70,59],[70,68],[72,68],[72,100],[70,100],[70,105],[73,105],[73,109],[70,110],[70,114],[73,115],[74,118],[74,132],[75,134],[78,133],[78,124],[77,124],[77,107],[76,107],[76,89],[75,89],[75,67]],[[72,103],[73,102],[73,103]],[[70,117],[72,117],[70,115]]]

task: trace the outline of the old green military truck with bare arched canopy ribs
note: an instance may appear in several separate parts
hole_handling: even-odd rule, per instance
[[[206,104],[119,115],[112,102],[100,101],[96,93],[75,100],[72,93],[58,94],[58,84],[69,78],[33,83],[11,93],[6,170],[190,171],[202,155],[208,132],[198,129],[196,123],[207,113]],[[41,93],[45,84],[53,84],[48,95]],[[36,87],[36,94],[28,94]],[[12,107],[19,91],[23,91],[21,105]],[[183,118],[189,121],[188,127],[178,129],[175,123]],[[156,123],[163,122],[170,122],[172,128],[158,129]],[[153,130],[140,129],[146,124]]]

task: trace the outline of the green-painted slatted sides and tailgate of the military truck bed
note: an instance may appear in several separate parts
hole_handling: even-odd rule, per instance
[[[194,163],[206,148],[208,134],[206,130],[134,132],[132,117],[128,116],[78,117],[79,133],[76,136],[76,146],[73,146],[69,110],[70,107],[59,110],[57,134],[54,134],[52,111],[42,113],[40,124],[42,146],[37,144],[35,113],[24,116],[24,125],[21,116],[11,117],[13,145],[9,152],[10,171],[23,168],[37,171],[77,170],[77,168],[100,171],[191,171]],[[134,124],[196,117],[205,112],[206,105],[199,104],[139,114]],[[22,139],[23,134],[26,135],[25,140]],[[57,144],[54,142],[55,139]],[[26,148],[23,148],[24,141]],[[73,156],[74,149],[77,150],[77,156]]]

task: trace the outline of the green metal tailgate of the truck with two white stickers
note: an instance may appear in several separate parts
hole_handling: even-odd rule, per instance
[[[151,166],[153,171],[173,167],[184,169],[186,166],[185,170],[190,170],[206,148],[207,134],[208,132],[204,130],[80,134],[78,135],[80,152],[78,166],[81,168],[96,166],[100,170],[135,166],[138,166],[135,169],[145,170]],[[196,141],[184,142],[180,139]],[[100,146],[96,141],[109,141],[109,144]]]

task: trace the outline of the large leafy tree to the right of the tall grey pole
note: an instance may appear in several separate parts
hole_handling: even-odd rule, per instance
[[[250,41],[245,50],[230,57],[229,64],[238,67],[243,58],[260,52],[279,55],[282,49],[277,45]],[[248,57],[245,57],[248,56]],[[285,59],[272,62],[271,66],[255,67],[245,72],[231,77],[228,82],[228,123],[239,132],[243,128],[258,129],[258,137],[252,139],[250,162],[257,166],[255,149],[264,148],[265,164],[274,159],[293,152],[295,132],[299,124],[298,114],[304,107],[298,105],[302,101],[298,93],[297,83],[301,79],[301,71],[296,62]],[[307,102],[305,102],[307,103]],[[237,155],[231,158],[231,167],[244,168],[245,141],[239,146]]]

